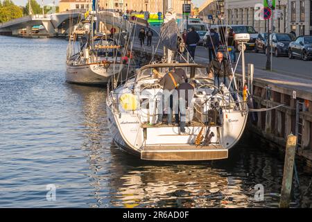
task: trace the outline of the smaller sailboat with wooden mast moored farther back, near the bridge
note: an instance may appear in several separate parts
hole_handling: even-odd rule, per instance
[[[105,34],[95,34],[95,6],[86,16],[89,23],[84,22],[81,28],[85,35],[80,42],[76,41],[78,26],[69,38],[66,80],[68,83],[106,84],[126,66],[123,64],[122,46]]]

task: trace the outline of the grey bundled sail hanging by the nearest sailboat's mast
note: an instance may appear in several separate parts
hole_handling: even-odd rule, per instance
[[[178,49],[178,37],[181,37],[177,22],[175,21],[175,12],[166,12],[164,24],[160,29],[160,39],[166,48],[171,51],[177,51]]]

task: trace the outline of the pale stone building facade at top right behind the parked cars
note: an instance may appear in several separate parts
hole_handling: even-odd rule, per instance
[[[228,0],[226,13],[229,24],[252,25],[259,32],[267,31],[267,22],[259,19],[260,0]],[[312,35],[312,0],[277,0],[276,8],[282,12],[274,20],[277,33],[295,31],[296,35]]]

